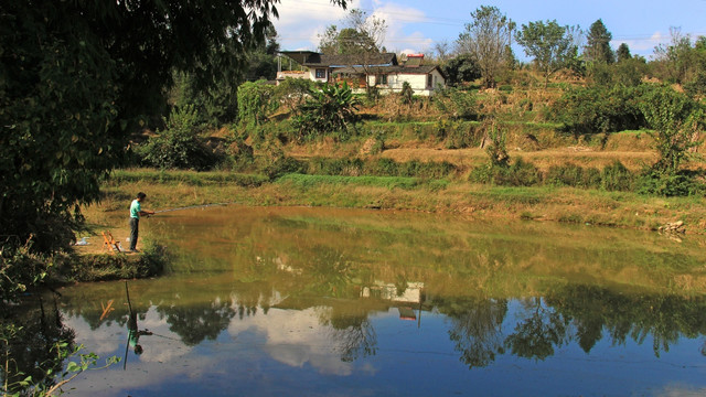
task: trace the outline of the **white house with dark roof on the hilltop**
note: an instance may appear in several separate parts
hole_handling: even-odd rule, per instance
[[[424,55],[406,55],[402,64],[393,53],[365,55],[325,55],[310,51],[285,51],[306,69],[281,71],[277,81],[287,77],[308,78],[312,82],[347,82],[354,90],[377,87],[382,94],[400,92],[405,82],[415,95],[431,96],[446,86],[446,77],[436,65],[422,65]],[[281,63],[280,63],[281,66]],[[367,85],[366,85],[367,82]]]

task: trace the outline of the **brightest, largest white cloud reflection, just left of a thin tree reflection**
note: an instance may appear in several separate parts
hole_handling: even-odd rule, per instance
[[[278,362],[296,367],[309,363],[322,374],[350,375],[352,363],[341,361],[329,328],[320,325],[320,318],[325,315],[321,310],[328,309],[270,309],[267,315],[231,322],[228,333],[235,337],[255,328],[265,334],[265,350]]]

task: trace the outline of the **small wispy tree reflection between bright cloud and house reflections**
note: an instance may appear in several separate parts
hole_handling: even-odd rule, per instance
[[[366,311],[359,309],[356,312],[336,313],[334,309],[329,324],[333,329],[333,340],[339,343],[336,351],[341,361],[353,362],[377,353],[377,334]]]

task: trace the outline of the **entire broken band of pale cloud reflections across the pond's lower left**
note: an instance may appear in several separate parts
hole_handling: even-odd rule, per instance
[[[330,311],[331,308],[324,307],[302,311],[272,308],[266,315],[232,320],[227,331],[235,341],[238,341],[237,335],[255,331],[259,335],[258,340],[264,337],[266,341],[265,346],[259,347],[263,353],[288,366],[310,366],[325,375],[347,376],[353,374],[354,369],[375,374],[376,369],[370,364],[356,368],[353,363],[341,361],[340,341],[334,337],[335,330],[330,325],[321,325],[324,322],[321,319],[329,319]],[[125,396],[130,395],[131,390],[156,387],[170,379],[199,382],[210,375],[231,371],[223,364],[233,357],[227,352],[237,351],[238,342],[232,347],[222,346],[223,348],[211,351],[208,354],[196,353],[204,347],[184,345],[179,335],[169,330],[167,318],[160,319],[154,307],[148,310],[145,320],[140,320],[138,324],[141,330],[149,329],[154,335],[140,336],[145,353],[137,356],[132,351],[129,352],[128,371],[124,372],[122,363],[119,363],[107,372],[84,373],[72,380],[71,388],[75,389],[68,393],[69,395]],[[103,358],[113,355],[122,358],[127,342],[127,324],[120,326],[116,322],[110,325],[104,323],[92,331],[83,318],[78,316],[67,318],[66,325],[76,330],[77,343],[83,343],[86,352],[99,354],[101,362]],[[249,354],[242,356],[242,360],[248,362],[249,360],[245,358]],[[249,357],[257,360],[257,353]],[[226,376],[225,373],[222,375]]]

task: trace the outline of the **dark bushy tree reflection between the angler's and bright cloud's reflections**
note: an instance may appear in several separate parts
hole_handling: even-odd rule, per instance
[[[181,336],[184,344],[194,346],[203,340],[215,340],[228,328],[235,315],[229,300],[216,298],[205,304],[160,305],[157,311],[167,316],[169,329]]]

